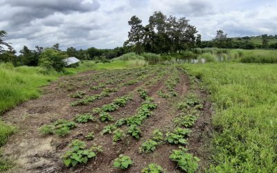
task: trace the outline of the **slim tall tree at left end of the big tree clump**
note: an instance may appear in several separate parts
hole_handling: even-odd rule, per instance
[[[128,21],[131,30],[128,32],[128,39],[125,42],[125,46],[133,46],[134,52],[141,53],[143,51],[142,41],[143,41],[143,30],[144,27],[141,24],[141,19],[139,17],[133,16]]]

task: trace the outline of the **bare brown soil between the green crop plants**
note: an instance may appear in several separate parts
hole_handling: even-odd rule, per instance
[[[176,74],[179,76],[179,82],[175,86],[177,96],[161,98],[157,91],[167,90],[166,81],[172,78],[173,70],[177,71]],[[158,75],[161,78],[157,78]],[[137,81],[134,84],[124,85],[130,80]],[[91,86],[99,86],[99,84],[105,84],[104,88],[116,88],[118,91],[87,105],[71,106],[72,102],[81,99],[71,98],[71,93],[84,91],[85,95],[96,95],[103,89],[95,90],[91,89]],[[123,140],[113,143],[112,134],[102,135],[101,131],[103,127],[114,122],[101,122],[100,120],[78,123],[78,127],[72,129],[71,133],[64,137],[45,135],[38,131],[42,125],[58,119],[73,121],[75,115],[91,113],[93,108],[102,107],[103,104],[109,104],[112,100],[128,93],[132,93],[133,100],[128,101],[125,107],[112,111],[111,116],[115,120],[134,116],[136,109],[144,101],[137,91],[139,88],[148,91],[148,96],[152,97],[154,103],[157,104],[157,109],[154,109],[152,116],[139,127],[142,131],[139,140],[127,135]],[[141,143],[152,137],[154,129],[160,129],[166,133],[175,128],[173,119],[180,113],[177,103],[183,101],[191,91],[195,91],[201,97],[204,109],[200,111],[199,118],[192,127],[187,147],[191,154],[201,159],[198,171],[203,172],[204,167],[208,165],[206,141],[211,131],[211,104],[206,101],[206,94],[200,91],[197,85],[194,89],[190,88],[188,76],[182,69],[175,67],[89,71],[60,78],[49,86],[45,86],[40,98],[24,102],[3,115],[3,120],[18,127],[17,133],[11,136],[3,147],[4,154],[16,163],[16,166],[8,172],[141,172],[143,167],[149,163],[157,163],[168,172],[181,172],[176,163],[169,159],[172,149],[177,149],[178,145],[163,143],[154,152],[148,154],[139,153],[139,147]],[[98,115],[95,116],[98,118]],[[89,132],[95,134],[92,141],[84,138]],[[87,165],[66,167],[62,163],[62,156],[69,149],[68,145],[73,139],[84,140],[88,146],[93,143],[102,145],[104,152],[89,160]],[[124,171],[114,168],[113,161],[119,154],[130,156],[134,165]]]

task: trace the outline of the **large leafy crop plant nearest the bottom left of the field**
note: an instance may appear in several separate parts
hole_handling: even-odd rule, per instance
[[[100,147],[93,146],[90,149],[86,149],[86,143],[78,139],[73,140],[69,147],[71,149],[63,156],[63,162],[66,166],[74,167],[78,163],[87,163],[89,158],[96,156],[96,152],[100,152],[98,149]]]

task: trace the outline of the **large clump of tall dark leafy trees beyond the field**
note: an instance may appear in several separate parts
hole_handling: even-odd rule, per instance
[[[133,46],[136,52],[168,53],[195,46],[195,26],[188,24],[188,19],[154,12],[149,17],[149,24],[143,26],[141,19],[133,16],[129,25],[131,30],[125,46]]]

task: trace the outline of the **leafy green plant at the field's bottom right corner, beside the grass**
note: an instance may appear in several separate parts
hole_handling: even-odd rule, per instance
[[[170,155],[171,161],[177,162],[178,167],[188,173],[193,173],[197,170],[199,158],[193,156],[192,154],[186,153],[188,149],[184,147],[179,147],[180,149],[173,149]]]

